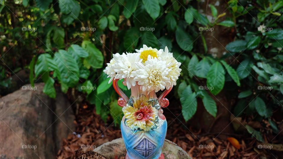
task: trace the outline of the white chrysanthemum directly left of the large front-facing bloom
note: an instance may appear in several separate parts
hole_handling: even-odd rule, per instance
[[[123,53],[121,55],[122,59],[119,59],[118,62],[112,66],[114,71],[117,72],[116,79],[126,78],[128,89],[136,85],[136,81],[134,81],[135,76],[132,72],[137,70],[135,62],[141,62],[139,55],[139,53]]]

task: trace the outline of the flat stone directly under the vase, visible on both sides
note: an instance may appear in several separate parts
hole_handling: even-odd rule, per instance
[[[96,153],[103,155],[107,159],[117,158],[124,159],[126,155],[126,148],[122,138],[112,140],[104,143],[93,150]],[[166,140],[162,147],[164,159],[191,159],[191,157],[175,143]]]

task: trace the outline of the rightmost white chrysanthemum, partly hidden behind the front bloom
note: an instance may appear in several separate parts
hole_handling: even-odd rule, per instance
[[[167,47],[165,47],[164,52],[162,52],[160,59],[166,62],[168,69],[170,70],[166,76],[169,80],[165,85],[166,89],[168,90],[170,87],[173,87],[177,84],[176,81],[178,80],[180,72],[182,71],[182,69],[179,68],[181,66],[181,62],[178,62],[173,57],[173,53],[169,52]]]

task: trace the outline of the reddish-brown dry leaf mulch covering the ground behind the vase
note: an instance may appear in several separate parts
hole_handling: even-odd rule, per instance
[[[80,108],[75,121],[76,132],[69,134],[63,140],[63,145],[57,153],[58,159],[103,158],[103,156],[93,153],[91,150],[103,143],[121,138],[121,130],[118,126],[113,125],[113,120],[110,117],[108,117],[108,123],[104,123],[94,110],[88,109]],[[257,140],[251,138],[250,135],[241,138],[234,136],[240,144],[239,149],[237,149],[228,140],[221,140],[218,134],[202,136],[200,132],[192,133],[191,130],[183,126],[180,120],[175,120],[172,115],[166,117],[168,125],[172,122],[167,129],[166,139],[179,145],[193,158],[257,159],[275,158],[276,156],[270,150],[257,149]],[[202,145],[206,147],[201,148]]]

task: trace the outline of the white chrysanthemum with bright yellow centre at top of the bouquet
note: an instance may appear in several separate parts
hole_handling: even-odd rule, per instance
[[[162,54],[163,49],[157,50],[152,47],[147,47],[147,45],[143,45],[141,49],[139,50],[136,49],[136,52],[140,53],[140,58],[142,59],[142,62],[146,62],[148,55],[150,55],[153,58],[154,57],[158,58]]]

